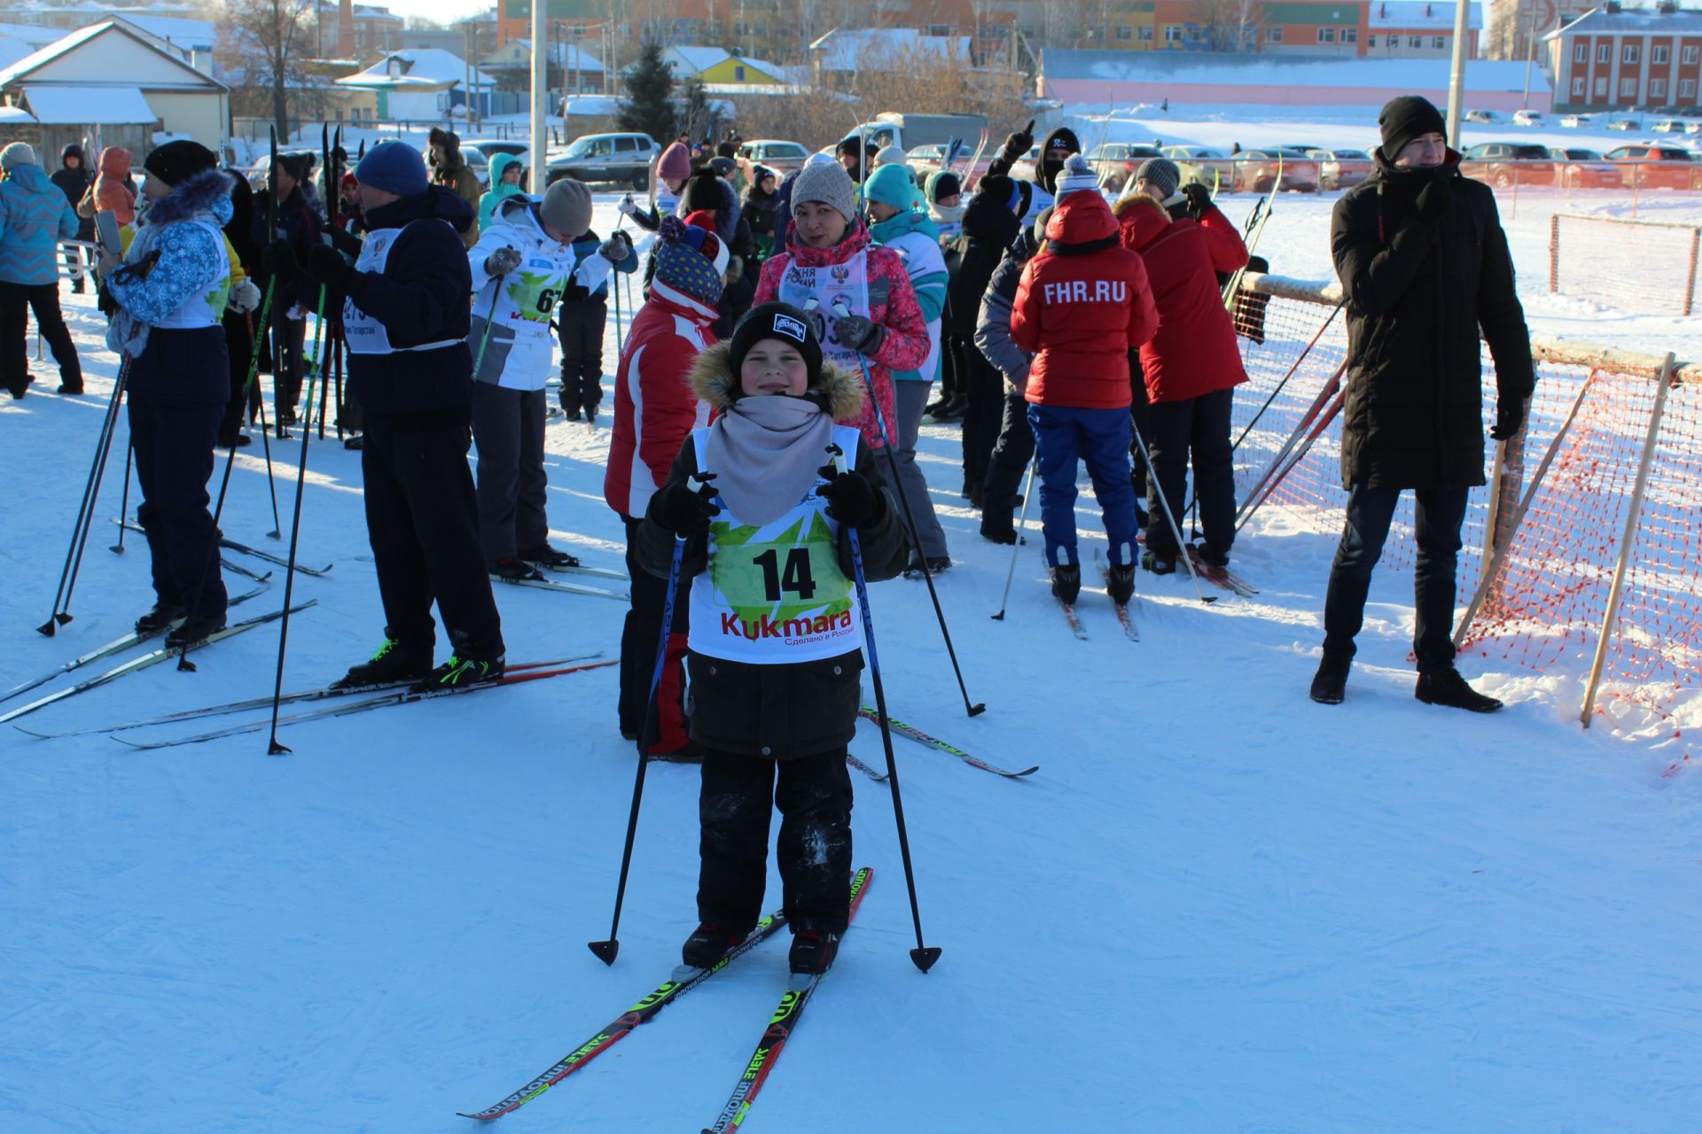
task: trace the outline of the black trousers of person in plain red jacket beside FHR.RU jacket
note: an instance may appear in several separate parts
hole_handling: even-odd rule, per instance
[[[1236,542],[1236,468],[1229,457],[1229,411],[1234,389],[1217,389],[1181,401],[1156,401],[1147,408],[1147,452],[1152,476],[1147,483],[1147,547],[1174,558],[1181,547],[1164,519],[1159,493],[1169,502],[1176,525],[1183,527],[1188,507],[1188,456],[1193,454],[1193,493],[1200,500],[1200,530],[1217,551]]]

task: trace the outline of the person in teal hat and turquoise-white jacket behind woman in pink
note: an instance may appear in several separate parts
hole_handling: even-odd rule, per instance
[[[916,291],[916,304],[922,311],[928,328],[928,357],[916,369],[894,369],[894,398],[897,401],[897,444],[892,456],[897,466],[897,491],[911,505],[911,519],[916,520],[916,559],[905,568],[905,576],[921,578],[936,575],[951,566],[946,553],[946,534],[934,515],[933,495],[928,491],[928,478],[916,464],[916,439],[922,428],[922,410],[928,406],[928,391],[933,389],[940,376],[940,326],[946,306],[946,262],[940,253],[940,233],[919,211],[921,197],[916,190],[916,179],[909,167],[877,167],[863,185],[863,199],[868,202],[868,235],[883,248],[895,250],[904,258],[904,270]]]

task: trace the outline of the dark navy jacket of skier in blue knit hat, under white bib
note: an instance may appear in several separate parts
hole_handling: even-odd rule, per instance
[[[349,303],[385,325],[391,347],[465,340],[473,272],[461,233],[473,226],[473,209],[453,189],[431,185],[368,211],[366,223],[371,233],[403,231],[383,274],[349,272],[344,282]],[[466,342],[437,350],[351,352],[349,379],[368,425],[390,422],[400,428],[410,418],[471,420],[473,355]]]

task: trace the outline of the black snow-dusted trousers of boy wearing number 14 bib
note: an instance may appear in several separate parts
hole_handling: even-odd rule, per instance
[[[698,918],[744,933],[762,916],[768,828],[776,806],[786,923],[793,933],[842,933],[851,889],[851,774],[844,748],[778,762],[705,753]]]

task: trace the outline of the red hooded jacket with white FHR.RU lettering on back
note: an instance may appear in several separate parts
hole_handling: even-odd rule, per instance
[[[1118,240],[1098,192],[1064,197],[1047,243],[1023,269],[1011,338],[1035,354],[1028,401],[1079,410],[1128,406],[1128,352],[1159,328],[1140,255]]]

